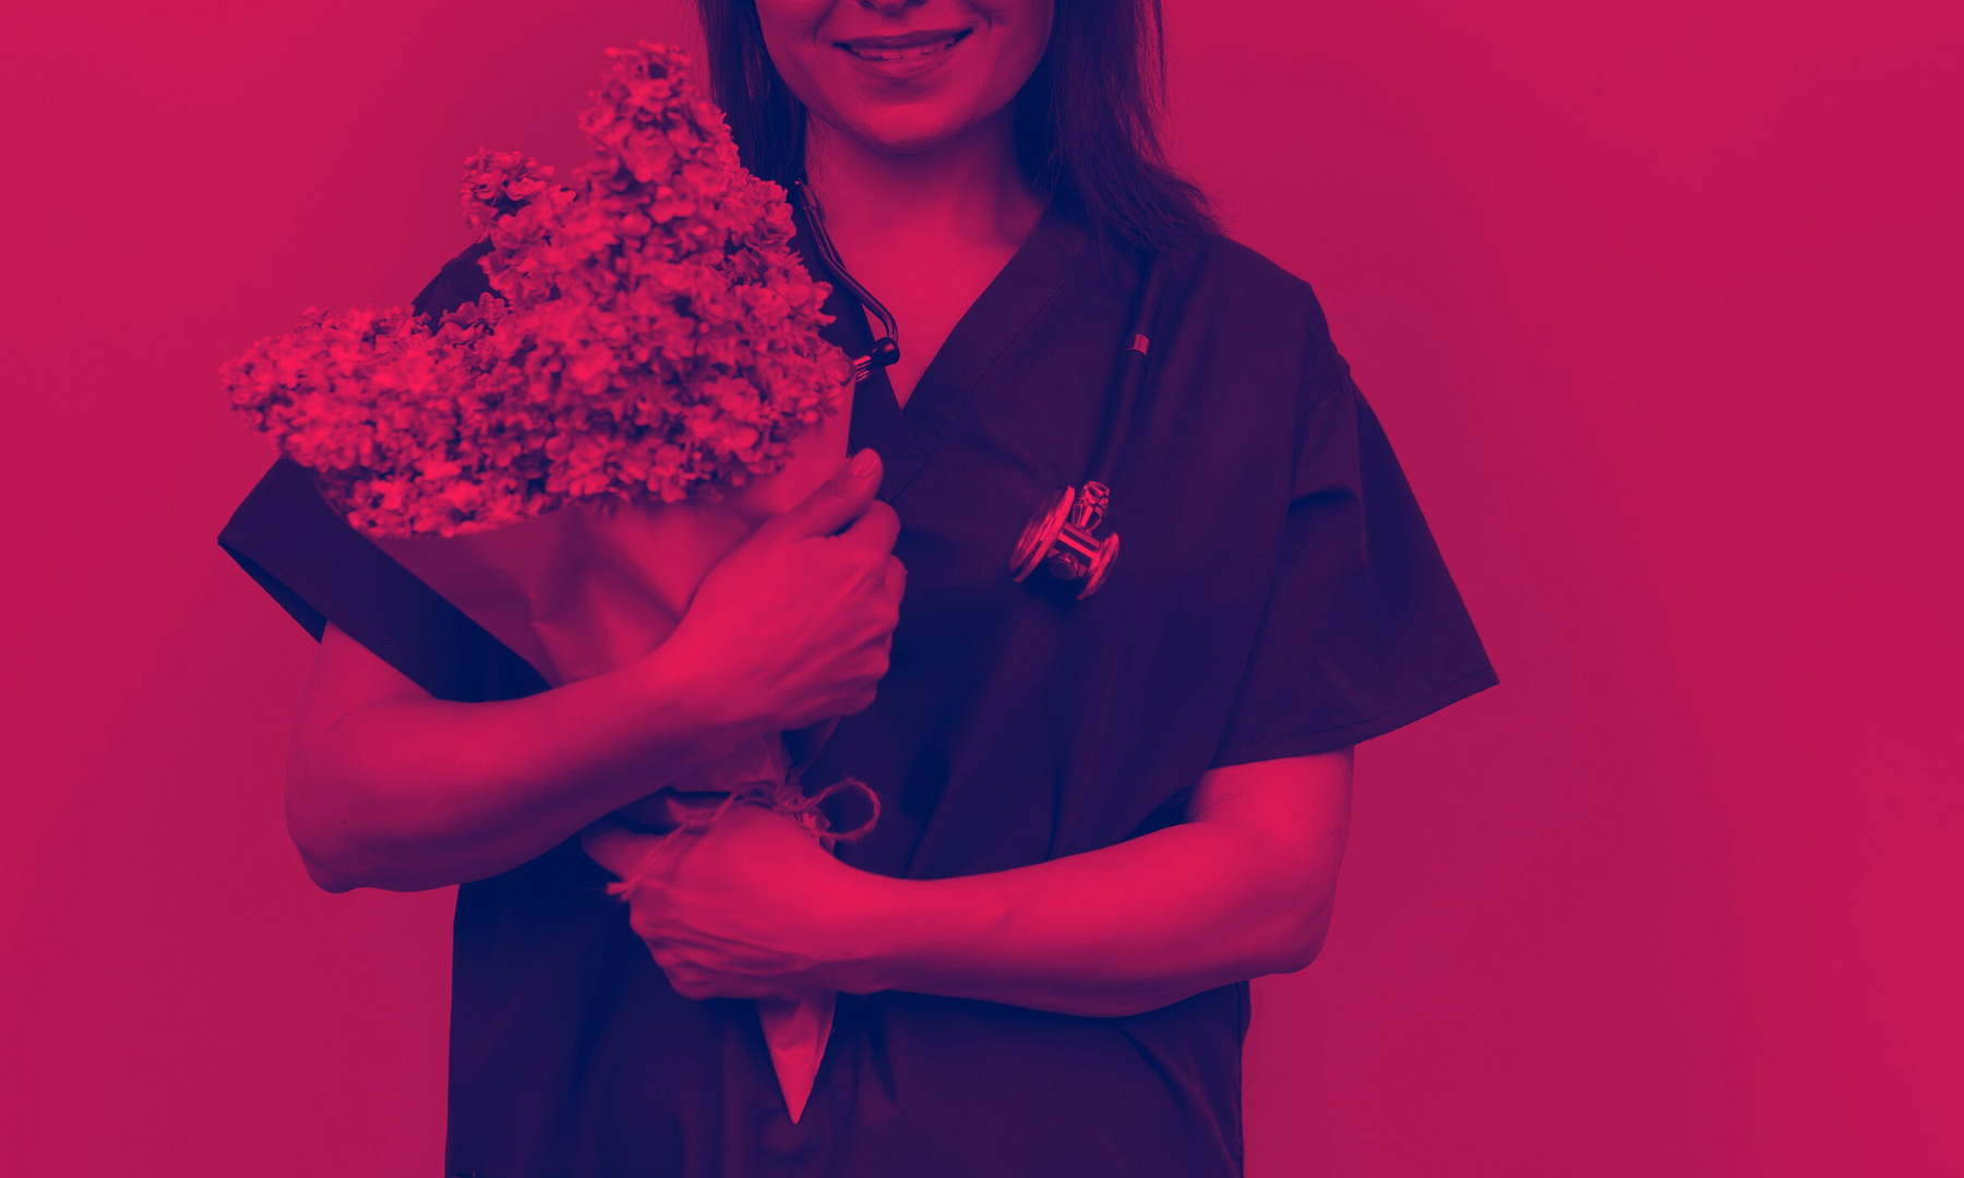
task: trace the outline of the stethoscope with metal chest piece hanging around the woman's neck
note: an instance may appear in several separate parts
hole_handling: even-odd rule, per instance
[[[880,320],[884,332],[874,340],[866,355],[852,359],[852,381],[864,381],[876,367],[888,367],[900,359],[900,326],[894,314],[860,287],[846,273],[833,240],[825,234],[825,218],[819,202],[803,181],[793,181],[793,192],[805,208],[805,222],[811,226],[811,241],[819,257],[831,267],[846,289]],[[1118,532],[1104,532],[1104,518],[1112,507],[1112,475],[1125,454],[1125,434],[1137,410],[1139,389],[1145,383],[1145,353],[1151,348],[1153,316],[1159,312],[1159,298],[1167,273],[1161,255],[1147,259],[1145,283],[1139,304],[1131,312],[1125,330],[1125,346],[1118,355],[1118,389],[1106,401],[1104,430],[1098,438],[1098,454],[1092,459],[1092,473],[1082,485],[1063,487],[1043,501],[1043,507],[1023,524],[1023,534],[1009,556],[1009,571],[1017,581],[1029,577],[1037,567],[1047,567],[1053,577],[1066,585],[1078,585],[1078,601],[1098,593],[1112,575],[1112,562],[1118,560]]]

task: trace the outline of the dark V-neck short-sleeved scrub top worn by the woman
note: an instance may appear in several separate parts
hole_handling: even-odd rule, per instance
[[[477,255],[418,306],[485,291]],[[1137,287],[1139,259],[1057,202],[905,408],[884,373],[856,389],[850,442],[886,461],[907,595],[876,703],[807,774],[880,791],[878,829],[841,848],[854,866],[941,878],[1110,846],[1176,821],[1214,766],[1343,748],[1495,683],[1310,287],[1228,240],[1167,285],[1110,581],[1072,601],[1047,571],[1009,579],[1033,509],[1086,477]],[[843,287],[829,310],[864,351]],[[542,689],[289,461],[220,542],[312,634],[334,620],[432,695]],[[754,1007],[678,997],[605,882],[568,842],[458,891],[452,1174],[1241,1172],[1247,984],[1123,1019],[841,995],[793,1125]]]

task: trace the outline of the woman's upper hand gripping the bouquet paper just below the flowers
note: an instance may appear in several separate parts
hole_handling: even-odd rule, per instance
[[[907,569],[880,455],[766,520],[703,577],[676,632],[632,668],[687,683],[711,728],[780,732],[872,705]]]

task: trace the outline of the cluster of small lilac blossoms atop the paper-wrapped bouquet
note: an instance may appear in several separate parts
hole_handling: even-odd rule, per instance
[[[680,49],[609,49],[572,185],[467,161],[491,293],[436,324],[308,310],[224,367],[232,404],[377,536],[458,536],[572,501],[713,499],[784,467],[850,361]]]

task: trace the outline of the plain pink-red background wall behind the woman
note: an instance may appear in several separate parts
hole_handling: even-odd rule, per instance
[[[1964,1170],[1960,8],[1169,4],[1180,157],[1504,679],[1359,756],[1249,1174]],[[212,544],[214,369],[412,294],[464,155],[572,163],[676,12],[12,8],[0,1168],[438,1172],[450,893],[285,838],[312,644]]]

